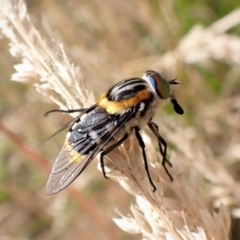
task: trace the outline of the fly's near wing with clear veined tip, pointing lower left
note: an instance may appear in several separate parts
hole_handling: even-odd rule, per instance
[[[109,140],[119,131],[119,129],[133,116],[134,112],[133,109],[130,109],[119,117],[116,125],[109,125],[110,127],[105,128],[106,130],[101,132],[98,138],[85,144],[86,147],[93,147],[93,149],[91,149],[86,155],[81,155],[76,151],[78,145],[85,143],[84,141],[86,141],[86,139],[84,139],[84,137],[78,139],[74,148],[72,148],[69,145],[68,140],[66,140],[48,178],[46,193],[57,193],[72,183],[88,166],[93,158],[104,148]],[[106,124],[108,123],[109,120],[106,121]],[[99,123],[99,126],[102,127],[103,122]],[[94,128],[96,128],[96,126]]]

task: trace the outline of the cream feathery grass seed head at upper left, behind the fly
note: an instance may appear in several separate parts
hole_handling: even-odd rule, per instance
[[[17,72],[12,80],[33,83],[37,91],[63,109],[91,105],[94,97],[85,90],[80,69],[70,63],[62,44],[42,39],[31,23],[25,3],[3,0],[1,6],[2,34],[11,40],[12,56],[22,58],[22,63],[14,66]]]

